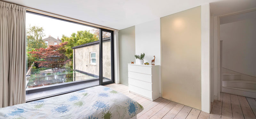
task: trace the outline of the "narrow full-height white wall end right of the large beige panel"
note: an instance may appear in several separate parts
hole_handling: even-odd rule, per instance
[[[210,113],[210,4],[201,5],[201,104]]]

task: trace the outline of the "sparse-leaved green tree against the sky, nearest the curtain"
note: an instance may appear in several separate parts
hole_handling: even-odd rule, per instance
[[[38,26],[30,26],[26,30],[27,31],[27,42],[28,42],[28,47],[29,48],[46,48],[47,45],[44,43],[42,38],[45,36],[44,35],[44,29],[43,27],[38,27]]]

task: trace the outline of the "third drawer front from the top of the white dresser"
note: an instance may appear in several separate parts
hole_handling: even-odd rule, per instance
[[[133,85],[133,86],[137,86],[137,87],[152,91],[152,83],[148,83],[148,82],[145,82],[145,81],[140,81],[140,80],[132,79],[132,78],[128,78],[128,83]]]

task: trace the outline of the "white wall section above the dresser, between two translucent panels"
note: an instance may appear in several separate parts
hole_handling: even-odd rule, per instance
[[[160,18],[135,26],[135,53],[145,53],[144,63],[156,56],[155,64],[161,64]]]

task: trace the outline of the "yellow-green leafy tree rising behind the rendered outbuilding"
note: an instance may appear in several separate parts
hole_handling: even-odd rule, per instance
[[[62,35],[61,41],[68,42],[68,44],[64,47],[66,52],[65,55],[69,59],[73,59],[73,49],[72,47],[82,45],[85,43],[98,41],[99,39],[95,34],[90,33],[90,31],[77,31],[77,33],[72,33],[70,37]]]

